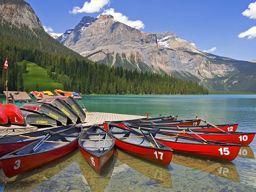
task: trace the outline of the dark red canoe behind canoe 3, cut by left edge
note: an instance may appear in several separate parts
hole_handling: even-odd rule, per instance
[[[61,131],[69,128],[70,125],[46,129],[44,131],[35,131],[31,133],[24,133],[22,135],[11,135],[0,138],[0,157],[18,150],[30,143],[35,142],[38,139],[42,139],[45,136],[45,131]]]

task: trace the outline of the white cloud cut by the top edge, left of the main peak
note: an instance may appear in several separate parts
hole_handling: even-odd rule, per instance
[[[110,0],[91,0],[90,3],[85,1],[83,7],[73,7],[72,11],[69,11],[71,14],[78,13],[94,13],[99,12],[106,5],[110,4]]]

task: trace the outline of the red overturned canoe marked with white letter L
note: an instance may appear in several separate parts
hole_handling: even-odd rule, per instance
[[[23,114],[17,105],[5,104],[8,120],[10,124],[25,124]]]

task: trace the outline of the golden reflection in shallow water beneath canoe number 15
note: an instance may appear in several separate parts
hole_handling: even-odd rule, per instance
[[[206,177],[208,175],[207,173],[211,173],[217,176],[228,178],[232,181],[240,181],[236,166],[234,166],[234,164],[229,161],[218,161],[215,159],[200,158],[185,154],[181,155],[179,153],[174,153],[172,157],[172,162],[178,165],[202,170],[203,172],[195,174],[195,178],[198,179],[202,179],[203,177]]]

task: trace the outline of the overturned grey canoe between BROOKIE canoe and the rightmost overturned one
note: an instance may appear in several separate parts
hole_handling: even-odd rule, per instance
[[[51,107],[63,112],[67,116],[70,123],[76,123],[76,121],[78,120],[78,115],[76,114],[76,112],[59,98],[52,97],[47,99],[41,99],[38,101],[38,103],[48,104]]]

